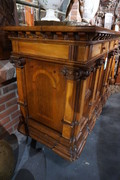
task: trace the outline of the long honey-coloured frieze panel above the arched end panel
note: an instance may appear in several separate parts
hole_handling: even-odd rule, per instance
[[[36,41],[12,41],[13,52],[25,55],[39,56],[52,59],[68,60],[69,46],[64,44],[42,43]]]

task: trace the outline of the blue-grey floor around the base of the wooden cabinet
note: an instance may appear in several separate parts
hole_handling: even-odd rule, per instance
[[[68,162],[37,143],[37,150],[16,132],[12,141],[16,170],[12,180],[120,180],[120,93],[111,95],[81,156]],[[42,148],[39,149],[39,148]]]

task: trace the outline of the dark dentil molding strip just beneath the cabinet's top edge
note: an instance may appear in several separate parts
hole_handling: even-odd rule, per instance
[[[10,38],[32,38],[32,39],[54,39],[54,40],[75,40],[75,41],[103,41],[110,39],[119,39],[118,34],[109,34],[105,32],[61,32],[61,31],[36,31],[36,30],[24,30],[24,31],[8,31]]]

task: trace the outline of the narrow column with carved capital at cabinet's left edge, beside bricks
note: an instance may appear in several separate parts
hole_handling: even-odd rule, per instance
[[[26,95],[26,80],[25,80],[25,64],[26,61],[23,57],[11,56],[10,62],[16,67],[17,75],[17,87],[18,87],[18,104],[20,105],[21,117],[18,129],[24,129],[26,135],[28,132],[28,105],[27,105],[27,95]]]

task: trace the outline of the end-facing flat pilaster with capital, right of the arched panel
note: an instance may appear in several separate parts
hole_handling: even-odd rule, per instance
[[[67,79],[66,86],[66,100],[65,100],[65,113],[63,120],[62,136],[70,139],[72,135],[72,129],[75,121],[75,103],[77,95],[77,86],[80,83],[80,77],[82,72],[79,69],[65,67],[62,70],[63,75]]]

